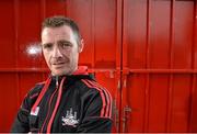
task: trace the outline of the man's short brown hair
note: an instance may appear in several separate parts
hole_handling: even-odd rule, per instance
[[[77,38],[77,43],[79,44],[81,41],[80,30],[79,30],[78,24],[70,18],[66,18],[63,15],[55,15],[55,16],[46,18],[43,21],[42,31],[45,27],[60,27],[63,25],[67,25],[72,30],[72,32]]]

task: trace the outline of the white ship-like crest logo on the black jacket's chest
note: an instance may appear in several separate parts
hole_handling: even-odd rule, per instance
[[[76,127],[79,123],[79,120],[77,119],[77,112],[72,112],[72,108],[67,111],[67,115],[61,118],[62,125],[70,125]]]

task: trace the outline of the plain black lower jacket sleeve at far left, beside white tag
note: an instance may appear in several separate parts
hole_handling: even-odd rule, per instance
[[[11,127],[12,133],[25,133],[30,131],[28,114],[30,114],[30,107],[28,107],[28,98],[26,96],[12,124]]]

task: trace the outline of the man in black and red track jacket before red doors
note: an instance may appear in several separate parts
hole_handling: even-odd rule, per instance
[[[111,132],[112,98],[78,67],[83,51],[78,25],[63,16],[43,22],[42,49],[51,75],[24,98],[11,132]]]

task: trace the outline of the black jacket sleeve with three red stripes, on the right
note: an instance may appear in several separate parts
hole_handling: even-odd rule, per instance
[[[106,91],[97,92],[85,102],[84,118],[77,132],[109,133],[112,131],[112,98]]]

